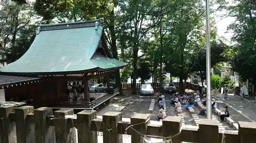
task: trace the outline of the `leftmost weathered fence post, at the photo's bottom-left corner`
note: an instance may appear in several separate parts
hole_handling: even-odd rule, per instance
[[[10,121],[10,113],[14,111],[15,105],[0,107],[0,142],[16,143],[15,124]]]

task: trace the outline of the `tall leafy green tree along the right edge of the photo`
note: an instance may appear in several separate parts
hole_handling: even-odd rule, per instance
[[[234,33],[232,41],[237,43],[232,48],[234,56],[230,65],[242,79],[249,79],[256,85],[256,4],[253,1],[234,1],[228,10],[230,16],[236,17],[228,28]]]

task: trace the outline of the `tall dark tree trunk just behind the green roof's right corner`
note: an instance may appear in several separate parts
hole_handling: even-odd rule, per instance
[[[117,46],[116,46],[116,34],[115,34],[115,13],[114,9],[110,13],[110,23],[109,23],[109,30],[111,35],[111,49],[112,54],[115,59],[118,59],[118,53],[117,53]],[[121,86],[121,78],[120,78],[120,72],[119,70],[115,73],[115,79],[116,79],[116,87],[119,88],[119,94],[123,95],[122,86]]]

